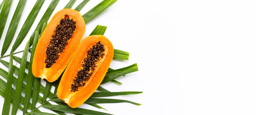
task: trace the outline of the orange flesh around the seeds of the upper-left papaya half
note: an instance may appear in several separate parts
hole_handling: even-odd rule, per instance
[[[70,19],[73,19],[76,22],[76,29],[74,34],[70,38],[67,46],[64,51],[60,55],[60,57],[56,60],[56,63],[52,65],[50,68],[45,67],[45,51],[47,45],[51,39],[51,36],[54,33],[57,25],[60,20],[65,17],[65,14],[68,14]],[[38,40],[35,54],[33,57],[32,63],[32,73],[35,77],[46,79],[49,82],[53,82],[59,78],[59,76],[63,73],[65,68],[67,67],[72,55],[75,53],[75,50],[81,41],[83,35],[85,33],[85,22],[81,16],[81,14],[72,9],[63,9],[58,11],[52,19],[47,24],[45,30],[43,31],[40,39]]]

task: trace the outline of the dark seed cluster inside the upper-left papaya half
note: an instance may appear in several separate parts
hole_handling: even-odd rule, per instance
[[[47,45],[45,67],[50,68],[56,60],[63,53],[70,38],[76,30],[76,22],[69,18],[68,14],[65,14],[65,18],[60,20],[60,24],[57,25],[54,34]]]

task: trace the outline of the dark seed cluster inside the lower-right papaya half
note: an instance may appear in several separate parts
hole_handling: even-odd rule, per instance
[[[87,51],[86,56],[83,58],[81,68],[77,71],[77,76],[71,84],[71,92],[78,91],[78,88],[84,86],[85,82],[90,79],[97,66],[96,63],[105,55],[104,51],[104,45],[100,41],[92,45]]]

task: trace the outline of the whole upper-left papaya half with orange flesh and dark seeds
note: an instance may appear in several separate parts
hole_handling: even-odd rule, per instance
[[[63,9],[53,15],[40,36],[32,63],[35,77],[53,82],[67,67],[85,33],[81,14]]]

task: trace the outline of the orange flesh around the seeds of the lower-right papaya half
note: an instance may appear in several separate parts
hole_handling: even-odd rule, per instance
[[[105,56],[102,59],[103,61],[101,60],[101,63],[97,66],[97,69],[95,69],[87,85],[81,87],[76,92],[71,92],[71,84],[77,74],[77,70],[81,67],[81,63],[83,62],[83,58],[86,56],[87,50],[98,41],[104,44],[104,47],[106,46]],[[63,100],[72,108],[76,108],[83,104],[96,91],[105,77],[113,56],[113,45],[105,36],[91,35],[84,38],[77,47],[73,58],[61,78],[57,89],[58,98]]]

